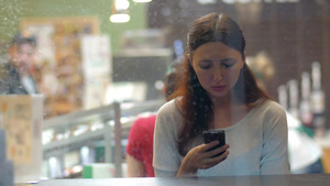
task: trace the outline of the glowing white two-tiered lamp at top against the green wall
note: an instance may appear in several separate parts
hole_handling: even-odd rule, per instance
[[[131,17],[129,14],[130,2],[128,0],[114,0],[111,7],[111,15],[109,20],[112,23],[129,22]]]

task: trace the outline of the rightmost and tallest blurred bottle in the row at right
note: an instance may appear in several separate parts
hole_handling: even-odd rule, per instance
[[[321,88],[321,66],[318,62],[311,65],[311,108],[314,113],[314,128],[317,136],[326,132],[326,95]]]

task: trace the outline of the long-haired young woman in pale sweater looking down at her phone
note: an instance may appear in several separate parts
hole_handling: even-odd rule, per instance
[[[183,65],[176,98],[156,119],[155,175],[288,174],[285,111],[257,87],[238,23],[217,13],[196,20]],[[202,131],[215,129],[227,144],[208,151],[219,142],[205,144]]]

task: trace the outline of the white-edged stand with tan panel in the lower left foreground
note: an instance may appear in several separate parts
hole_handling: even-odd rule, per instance
[[[14,183],[40,179],[43,96],[0,96],[0,110],[1,125],[6,131],[7,158],[14,164]]]

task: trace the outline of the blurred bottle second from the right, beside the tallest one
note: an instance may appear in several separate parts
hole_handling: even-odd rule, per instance
[[[312,127],[312,110],[310,103],[310,75],[307,72],[301,74],[301,100],[299,105],[300,120],[304,125]]]

